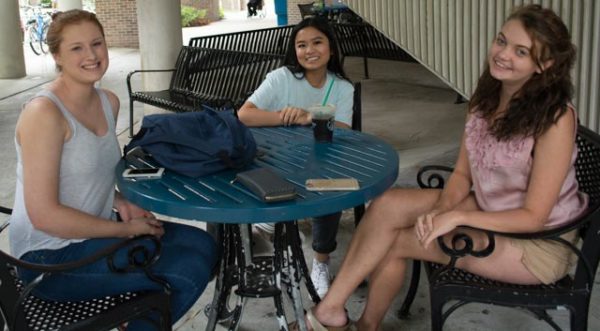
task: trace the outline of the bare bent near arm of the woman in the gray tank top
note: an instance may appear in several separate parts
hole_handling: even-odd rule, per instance
[[[23,162],[25,206],[34,228],[60,238],[162,234],[160,223],[153,219],[117,223],[60,204],[60,162],[70,128],[52,102],[33,99],[21,113],[16,136]]]

